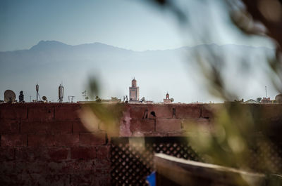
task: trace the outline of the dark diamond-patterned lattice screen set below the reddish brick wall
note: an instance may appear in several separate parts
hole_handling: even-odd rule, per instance
[[[154,153],[200,161],[182,137],[111,138],[111,185],[147,185]]]

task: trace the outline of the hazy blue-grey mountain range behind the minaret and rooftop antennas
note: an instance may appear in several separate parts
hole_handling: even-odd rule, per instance
[[[23,90],[26,101],[30,101],[30,96],[35,99],[38,83],[39,94],[56,102],[61,82],[65,101],[68,95],[74,95],[75,101],[82,100],[81,93],[89,77],[99,79],[100,97],[122,98],[128,95],[131,79],[135,77],[140,97],[147,100],[159,102],[168,92],[176,102],[218,101],[207,93],[192,58],[196,50],[204,51],[205,47],[139,52],[101,43],[71,46],[59,41],[39,41],[28,50],[0,52],[0,100],[6,89],[15,91],[17,96]],[[264,85],[269,86],[270,96],[276,95],[263,73],[266,56],[273,54],[271,49],[215,44],[208,47],[226,60],[223,67],[226,86],[242,98],[264,96]],[[238,66],[238,60],[245,57],[250,68]],[[244,69],[248,75],[244,75]]]

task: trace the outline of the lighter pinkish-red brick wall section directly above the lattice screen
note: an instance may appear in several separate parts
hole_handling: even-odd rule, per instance
[[[125,136],[185,135],[187,121],[209,125],[209,116],[202,113],[203,109],[203,105],[130,104],[123,114],[124,127],[120,133]]]

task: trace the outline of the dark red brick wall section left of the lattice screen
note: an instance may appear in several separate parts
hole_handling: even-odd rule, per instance
[[[106,133],[78,104],[0,105],[0,185],[109,185]]]

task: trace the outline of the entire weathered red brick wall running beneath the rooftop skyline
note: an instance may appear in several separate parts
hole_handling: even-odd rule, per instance
[[[1,104],[0,185],[110,185],[111,136],[188,135],[186,121],[209,126],[211,110],[222,105],[122,107],[121,119],[111,128],[117,133],[112,134],[91,114],[85,120],[82,105]],[[274,131],[280,131],[282,105],[243,107],[252,107],[246,114],[273,121]]]

